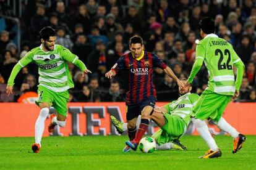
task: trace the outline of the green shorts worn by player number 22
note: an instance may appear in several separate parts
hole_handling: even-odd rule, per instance
[[[204,91],[193,108],[191,116],[202,120],[211,118],[213,121],[218,122],[231,97],[231,95]]]

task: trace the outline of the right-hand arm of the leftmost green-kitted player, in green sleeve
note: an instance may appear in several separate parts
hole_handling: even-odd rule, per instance
[[[82,76],[84,76],[84,74],[87,74],[87,73],[92,73],[92,71],[88,70],[85,64],[81,60],[79,60],[79,57],[77,57],[77,55],[70,52],[69,49],[66,49],[65,47],[63,47],[61,49],[61,57],[67,62],[74,63],[74,65],[76,65],[83,72]]]

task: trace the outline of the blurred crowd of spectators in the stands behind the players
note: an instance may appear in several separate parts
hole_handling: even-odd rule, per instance
[[[142,36],[145,51],[158,55],[177,77],[187,78],[195,59],[195,40],[200,39],[198,22],[206,16],[215,20],[216,34],[233,45],[245,64],[236,101],[256,102],[256,1],[19,2],[0,0],[0,102],[17,102],[25,92],[37,92],[38,67],[30,63],[17,75],[15,93],[10,97],[4,94],[14,65],[30,49],[40,46],[38,32],[44,26],[52,26],[57,33],[56,44],[79,56],[93,72],[82,77],[81,71],[69,63],[75,83],[75,88],[69,91],[70,102],[121,102],[127,89],[126,75],[120,73],[109,80],[105,73],[129,52],[129,38],[134,34]],[[207,87],[207,76],[203,65],[194,79],[192,92],[202,93]],[[179,96],[177,84],[160,68],[155,68],[153,82],[158,101],[171,101]]]

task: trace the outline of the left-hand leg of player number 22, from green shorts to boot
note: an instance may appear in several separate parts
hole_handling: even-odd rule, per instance
[[[210,148],[207,153],[205,153],[205,155],[201,156],[200,158],[216,158],[221,156],[221,151],[216,145],[216,142],[211,136],[210,131],[208,130],[208,126],[204,121],[209,117],[215,118],[218,115],[216,110],[218,110],[218,107],[220,107],[219,101],[221,100],[221,97],[223,97],[223,95],[204,91],[200,96],[200,99],[198,99],[194,109],[192,110],[192,116],[195,117],[192,118],[192,123],[195,125],[198,133]]]

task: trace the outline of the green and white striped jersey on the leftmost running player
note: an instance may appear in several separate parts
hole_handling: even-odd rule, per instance
[[[39,67],[38,86],[44,86],[51,91],[63,92],[74,87],[67,62],[77,64],[77,62],[80,62],[79,57],[61,45],[55,45],[54,50],[48,52],[43,51],[42,48],[43,46],[41,45],[28,52],[17,63],[20,68],[25,67],[30,62],[35,62]],[[79,65],[79,68],[82,71],[86,69],[83,63]],[[14,78],[17,75],[16,72],[19,72],[19,70],[14,70],[12,72],[15,73],[12,73],[9,78],[9,85],[14,84]]]

